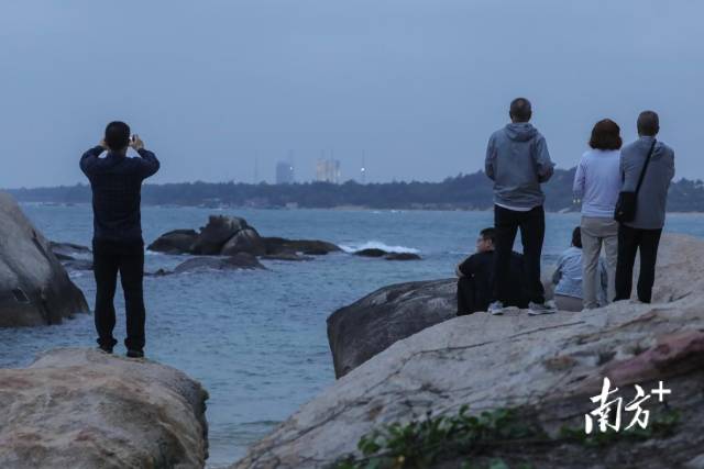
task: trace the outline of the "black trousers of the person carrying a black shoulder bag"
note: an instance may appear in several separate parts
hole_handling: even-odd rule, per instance
[[[638,276],[638,300],[650,303],[652,284],[656,281],[656,260],[662,230],[639,230],[620,224],[618,226],[618,258],[616,260],[616,299],[628,300],[632,290],[636,253],[640,250],[640,275]]]

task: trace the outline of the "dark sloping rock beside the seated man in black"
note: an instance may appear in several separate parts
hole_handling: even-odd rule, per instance
[[[340,378],[392,344],[455,316],[457,279],[384,287],[328,317]]]

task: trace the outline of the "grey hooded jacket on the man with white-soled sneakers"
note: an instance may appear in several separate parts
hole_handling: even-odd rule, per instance
[[[552,176],[546,139],[528,122],[494,132],[486,147],[485,171],[494,181],[494,203],[519,209],[542,205],[540,189]]]

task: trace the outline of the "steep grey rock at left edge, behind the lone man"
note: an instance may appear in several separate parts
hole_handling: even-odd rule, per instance
[[[57,324],[88,312],[48,241],[0,192],[0,327]]]

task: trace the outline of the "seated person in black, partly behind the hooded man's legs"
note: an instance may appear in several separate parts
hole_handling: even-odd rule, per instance
[[[486,311],[492,300],[492,271],[494,267],[494,228],[484,228],[476,239],[476,254],[464,259],[457,267],[458,316]],[[528,308],[520,287],[524,258],[514,253],[510,261],[510,282],[518,288],[506,306]]]

